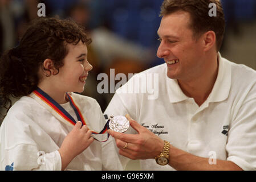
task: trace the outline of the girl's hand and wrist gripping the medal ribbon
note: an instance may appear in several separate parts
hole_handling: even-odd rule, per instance
[[[62,158],[62,170],[64,170],[75,156],[86,150],[94,141],[91,137],[92,131],[87,126],[82,126],[82,122],[76,122],[76,125],[64,138],[60,146],[59,154]]]

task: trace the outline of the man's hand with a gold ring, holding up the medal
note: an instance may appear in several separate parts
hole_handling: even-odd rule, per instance
[[[115,138],[119,154],[130,159],[155,159],[164,148],[164,140],[125,115],[138,134],[123,134],[112,130],[108,133]],[[124,148],[127,143],[127,148]]]

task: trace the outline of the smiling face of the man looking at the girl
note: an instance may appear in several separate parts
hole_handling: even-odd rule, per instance
[[[190,14],[185,11],[176,11],[162,17],[157,31],[161,42],[157,56],[165,60],[169,78],[190,80],[200,76],[204,69],[201,40],[194,37],[190,25]]]

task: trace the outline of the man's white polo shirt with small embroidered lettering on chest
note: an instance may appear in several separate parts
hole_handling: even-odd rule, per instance
[[[185,96],[177,80],[166,76],[166,64],[161,64],[133,76],[118,89],[104,114],[109,117],[128,113],[174,147],[204,158],[230,160],[244,170],[255,170],[256,72],[218,56],[217,80],[200,107],[193,98]],[[159,77],[155,94],[158,97],[149,100],[152,92],[144,93],[145,85],[133,82],[154,73]],[[147,83],[153,84],[154,76],[146,77]],[[132,85],[139,87],[140,93],[124,92]],[[127,158],[121,160],[124,166],[128,162]],[[156,164],[154,159],[140,162],[143,170],[173,170],[169,165]]]

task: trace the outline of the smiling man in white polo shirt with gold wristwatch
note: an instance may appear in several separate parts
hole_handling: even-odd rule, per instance
[[[209,16],[210,3],[216,16]],[[134,119],[128,117],[135,134],[109,130],[119,154],[145,159],[144,170],[255,170],[256,72],[218,53],[225,29],[220,1],[165,0],[161,16],[157,56],[166,63],[133,76],[104,113]],[[153,73],[155,100],[125,93],[136,78]]]

